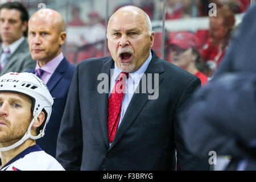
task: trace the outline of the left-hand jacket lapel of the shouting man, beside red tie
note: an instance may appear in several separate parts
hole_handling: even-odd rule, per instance
[[[96,72],[96,90],[98,89],[98,84],[102,82],[103,80],[97,80],[98,75],[101,73],[105,73],[105,76],[108,75],[107,79],[105,81],[108,81],[108,92],[110,87],[110,69],[114,65],[114,61],[111,56],[109,56],[108,60],[102,61],[103,63],[96,69],[98,72]],[[108,138],[108,98],[109,93],[98,93],[96,91],[96,99],[97,99],[97,106],[98,106],[98,115],[100,117],[100,125],[102,134],[104,136],[104,140],[106,143],[106,147],[109,148],[109,138]]]

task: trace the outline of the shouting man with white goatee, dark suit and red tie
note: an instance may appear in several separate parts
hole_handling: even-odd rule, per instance
[[[107,38],[112,56],[77,65],[56,159],[68,170],[171,170],[176,167],[176,149],[177,169],[209,169],[207,159],[197,160],[187,152],[177,121],[200,86],[199,78],[151,50],[150,18],[138,7],[116,11],[109,19]],[[154,76],[147,79],[153,82],[154,93],[143,92],[143,73],[146,78]],[[107,77],[106,85],[110,83],[110,88],[103,86],[104,93],[99,89],[101,76]]]

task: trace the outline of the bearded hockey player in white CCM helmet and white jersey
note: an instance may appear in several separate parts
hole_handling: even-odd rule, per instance
[[[64,170],[36,139],[44,136],[53,98],[32,73],[0,77],[0,170]]]

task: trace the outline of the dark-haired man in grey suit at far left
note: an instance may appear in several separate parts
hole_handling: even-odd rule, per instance
[[[0,6],[0,76],[9,72],[24,72],[35,67],[27,39],[28,13],[19,2],[7,2]]]

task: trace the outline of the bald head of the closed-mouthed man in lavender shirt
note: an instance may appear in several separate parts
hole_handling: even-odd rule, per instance
[[[28,21],[30,53],[40,67],[60,55],[66,36],[64,19],[55,10],[36,11]]]

